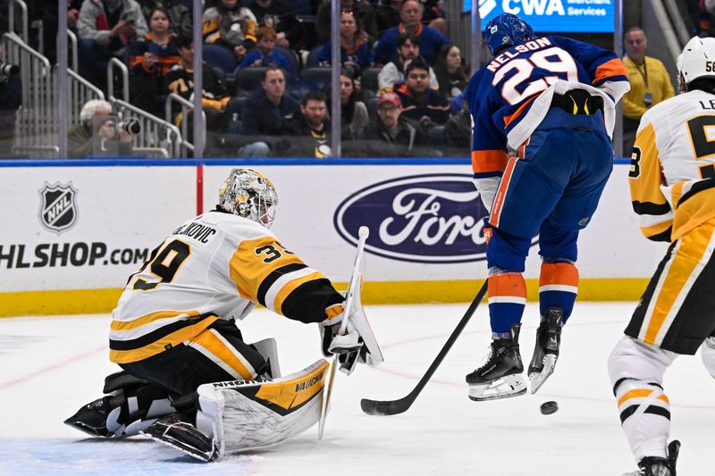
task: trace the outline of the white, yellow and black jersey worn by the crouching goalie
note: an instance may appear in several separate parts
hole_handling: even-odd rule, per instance
[[[256,221],[219,211],[186,221],[127,281],[112,313],[110,360],[136,362],[196,338],[257,303],[301,322],[342,312],[343,297]]]

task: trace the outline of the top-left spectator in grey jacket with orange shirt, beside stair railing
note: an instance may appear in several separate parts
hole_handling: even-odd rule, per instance
[[[107,62],[148,31],[135,0],[85,0],[78,29],[80,74],[103,89]]]

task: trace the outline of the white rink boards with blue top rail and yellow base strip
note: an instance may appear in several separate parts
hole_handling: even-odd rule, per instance
[[[468,301],[486,274],[483,218],[466,160],[237,159],[0,163],[0,315],[101,313],[181,222],[214,208],[233,167],[275,185],[273,231],[311,267],[348,280],[357,229],[370,228],[365,300]],[[637,299],[664,252],[637,230],[617,163],[582,232],[580,299]],[[526,263],[537,296],[538,245]]]

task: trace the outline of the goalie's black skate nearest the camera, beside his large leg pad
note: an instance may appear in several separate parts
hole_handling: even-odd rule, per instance
[[[205,463],[214,461],[218,457],[214,438],[207,437],[187,420],[186,415],[172,414],[157,420],[140,433]]]

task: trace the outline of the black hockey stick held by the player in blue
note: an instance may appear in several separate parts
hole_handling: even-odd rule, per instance
[[[474,315],[476,307],[479,305],[480,302],[482,302],[482,299],[484,299],[484,295],[486,294],[487,288],[486,284],[487,281],[485,280],[484,284],[482,285],[482,288],[479,289],[478,293],[476,293],[475,300],[472,301],[471,305],[469,305],[467,312],[464,313],[464,317],[462,317],[462,320],[459,321],[459,323],[457,324],[457,328],[452,331],[450,338],[447,339],[447,343],[444,345],[444,347],[442,347],[442,350],[434,359],[434,362],[432,363],[432,365],[430,365],[430,368],[427,369],[427,372],[425,372],[425,375],[422,377],[422,379],[419,380],[415,389],[409,392],[406,397],[402,397],[398,400],[370,400],[369,398],[363,398],[362,400],[360,400],[360,407],[363,409],[363,412],[369,415],[396,415],[408,411],[409,407],[412,406],[413,403],[415,403],[416,397],[419,395],[422,389],[425,388],[427,382],[432,378],[433,373],[437,370],[437,367],[440,366],[440,363],[442,363],[444,357],[447,355],[448,352],[450,352],[450,348],[452,348],[452,346],[454,345],[454,342],[459,337],[459,334],[462,333],[462,330],[464,330],[464,328],[467,326],[467,322],[469,322],[469,320]]]

